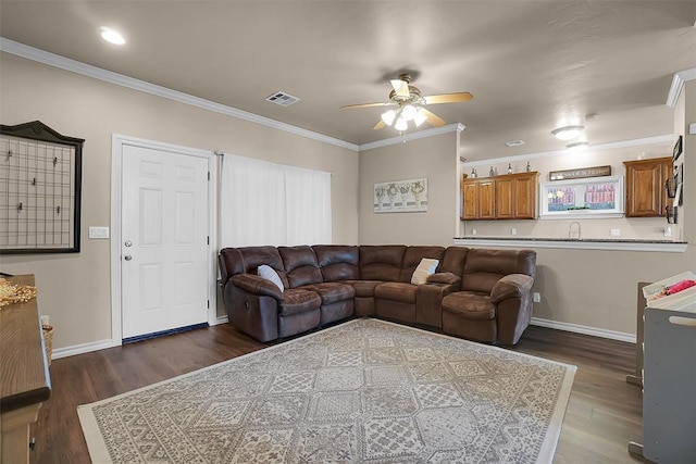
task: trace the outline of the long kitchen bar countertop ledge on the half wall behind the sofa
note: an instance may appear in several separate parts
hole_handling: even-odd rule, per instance
[[[638,238],[455,237],[455,244],[683,253],[688,242]]]

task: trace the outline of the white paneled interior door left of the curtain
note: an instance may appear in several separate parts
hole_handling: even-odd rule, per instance
[[[208,322],[208,163],[123,146],[123,338]]]

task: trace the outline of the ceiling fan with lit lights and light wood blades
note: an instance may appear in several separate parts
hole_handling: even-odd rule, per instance
[[[406,130],[409,128],[409,122],[413,122],[415,127],[420,127],[426,121],[433,127],[445,125],[445,121],[442,117],[425,109],[426,104],[459,103],[474,98],[469,92],[423,96],[418,87],[410,85],[411,80],[410,74],[401,74],[398,79],[391,79],[390,83],[394,90],[389,92],[388,101],[347,104],[340,106],[340,109],[396,105],[398,106],[396,110],[389,110],[382,114],[381,120],[374,125],[373,129],[378,130],[394,124],[395,129]]]

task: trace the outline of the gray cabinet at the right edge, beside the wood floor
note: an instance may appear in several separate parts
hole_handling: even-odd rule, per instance
[[[656,463],[696,456],[696,303],[645,309],[643,455]]]

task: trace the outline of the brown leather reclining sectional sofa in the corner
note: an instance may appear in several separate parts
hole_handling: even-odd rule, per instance
[[[439,264],[426,284],[413,285],[424,258]],[[243,247],[222,249],[219,261],[229,323],[260,341],[353,316],[377,316],[514,344],[532,316],[533,250]],[[284,291],[257,275],[261,265],[277,273]]]

